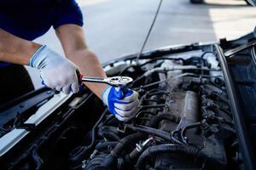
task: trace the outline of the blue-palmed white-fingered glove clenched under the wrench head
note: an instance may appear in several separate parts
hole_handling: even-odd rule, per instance
[[[127,89],[124,95],[119,90],[121,89],[108,86],[102,92],[102,101],[105,105],[108,105],[108,110],[119,121],[127,122],[136,116],[139,103],[138,94],[131,89]]]

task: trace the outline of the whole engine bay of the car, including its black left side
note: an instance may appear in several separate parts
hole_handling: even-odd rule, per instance
[[[214,46],[173,51],[104,66],[108,76],[134,80],[129,88],[137,91],[140,104],[131,121],[119,122],[84,89],[43,122],[39,134],[21,141],[20,145],[30,145],[29,150],[15,146],[22,156],[9,151],[7,157],[13,161],[4,165],[8,169],[237,169],[241,154]]]

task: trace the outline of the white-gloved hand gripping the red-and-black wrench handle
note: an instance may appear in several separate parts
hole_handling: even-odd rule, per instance
[[[78,67],[67,58],[56,54],[46,45],[38,48],[30,59],[30,66],[39,69],[44,84],[64,94],[79,92],[79,82],[76,71]]]

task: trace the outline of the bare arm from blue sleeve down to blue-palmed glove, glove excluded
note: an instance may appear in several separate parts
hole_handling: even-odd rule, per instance
[[[107,77],[102,70],[102,65],[87,48],[84,31],[81,26],[63,25],[58,27],[56,34],[61,41],[61,45],[68,59],[79,66],[79,71],[85,77]],[[102,91],[107,87],[106,84],[85,82],[85,85],[101,98]]]

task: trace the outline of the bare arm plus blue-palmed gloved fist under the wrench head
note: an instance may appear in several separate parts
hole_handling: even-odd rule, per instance
[[[79,66],[84,76],[106,77],[102,65],[86,46],[84,31],[81,26],[63,25],[56,29],[67,58]],[[137,92],[128,89],[126,94],[119,99],[116,89],[105,84],[86,82],[102,101],[108,105],[108,110],[116,116],[119,121],[129,121],[137,113],[138,99]]]

